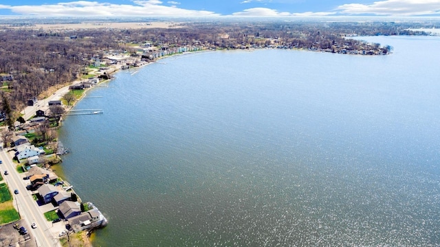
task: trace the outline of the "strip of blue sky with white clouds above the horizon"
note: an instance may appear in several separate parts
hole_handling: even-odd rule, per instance
[[[440,0],[0,0],[0,15],[440,16]]]

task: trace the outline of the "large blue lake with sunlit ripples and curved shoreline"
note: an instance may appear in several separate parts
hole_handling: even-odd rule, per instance
[[[89,91],[104,114],[60,139],[94,246],[440,243],[440,38],[369,40],[394,54],[188,54]]]

